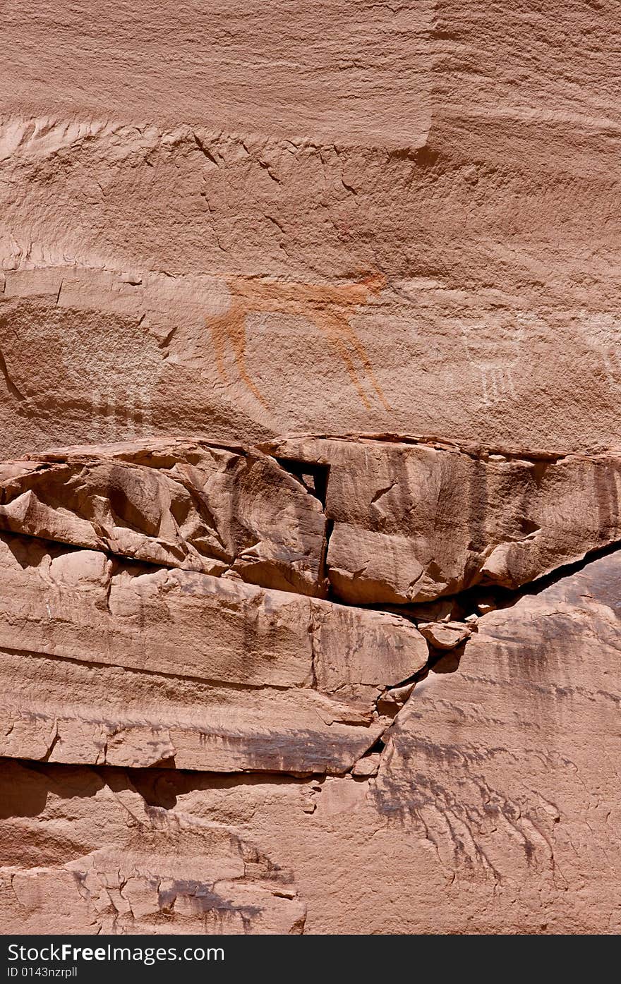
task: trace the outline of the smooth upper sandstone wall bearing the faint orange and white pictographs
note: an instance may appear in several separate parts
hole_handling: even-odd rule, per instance
[[[615,15],[571,0],[560,36],[508,0],[11,6],[5,454],[618,445]]]

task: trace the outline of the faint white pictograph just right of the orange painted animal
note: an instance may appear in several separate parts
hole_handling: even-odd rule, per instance
[[[518,399],[515,371],[528,320],[528,315],[520,314],[510,327],[483,321],[462,324],[467,360],[479,374],[485,406]]]

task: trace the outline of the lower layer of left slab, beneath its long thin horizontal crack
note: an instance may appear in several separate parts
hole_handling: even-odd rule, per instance
[[[0,755],[208,771],[345,772],[387,721],[310,688],[235,688],[0,650]]]

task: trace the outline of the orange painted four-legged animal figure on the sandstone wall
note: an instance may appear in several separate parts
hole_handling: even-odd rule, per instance
[[[225,277],[230,293],[228,309],[207,317],[216,354],[217,372],[227,382],[224,357],[230,345],[240,379],[251,393],[267,408],[268,401],[251,379],[246,365],[246,318],[255,313],[296,315],[312,322],[329,339],[342,359],[352,385],[364,405],[371,404],[362,386],[355,357],[359,359],[362,375],[370,382],[378,399],[391,409],[375,378],[366,348],[351,326],[357,309],[386,285],[386,277],[372,274],[344,284],[292,283],[267,277]]]

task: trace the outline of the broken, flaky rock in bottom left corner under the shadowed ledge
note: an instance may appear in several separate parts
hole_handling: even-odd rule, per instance
[[[173,816],[124,769],[5,761],[0,788],[3,860],[19,858],[0,869],[0,932],[303,931],[291,874],[244,838],[234,789]]]

